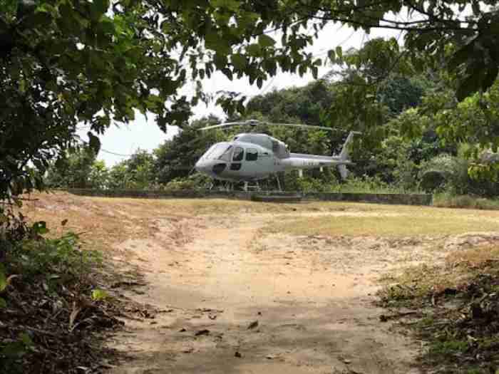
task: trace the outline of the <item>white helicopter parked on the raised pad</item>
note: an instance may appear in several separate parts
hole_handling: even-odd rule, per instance
[[[294,123],[262,123],[259,120],[246,120],[243,122],[222,123],[220,125],[207,126],[199,130],[211,130],[215,128],[228,128],[239,125],[279,125],[292,126],[307,129],[334,130],[323,126],[299,125]],[[347,165],[354,165],[349,160],[348,146],[357,131],[351,131],[346,138],[339,155],[305,155],[291,153],[287,145],[281,140],[267,134],[241,133],[235,135],[230,142],[218,142],[210,147],[204,155],[196,162],[195,169],[212,177],[215,180],[227,182],[244,182],[245,191],[249,182],[256,183],[271,175],[277,177],[279,172],[289,170],[302,170],[322,167],[338,167],[341,178],[348,175]],[[281,186],[277,177],[279,191]]]

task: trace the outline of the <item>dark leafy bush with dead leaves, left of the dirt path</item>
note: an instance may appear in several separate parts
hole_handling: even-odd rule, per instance
[[[71,353],[69,346],[72,343],[68,343],[66,338],[66,323],[72,312],[71,308],[63,306],[71,305],[75,295],[82,297],[82,294],[91,292],[93,300],[96,299],[94,296],[99,299],[106,296],[95,288],[89,276],[93,273],[93,266],[101,264],[101,255],[96,251],[81,251],[78,235],[72,232],[58,239],[46,239],[43,234],[48,233],[48,229],[44,222],[28,227],[21,219],[13,227],[16,235],[19,235],[20,226],[25,228],[23,237],[7,239],[10,229],[4,227],[0,241],[5,250],[0,258],[0,319],[6,317],[4,308],[11,313],[7,314],[8,319],[4,319],[6,323],[0,336],[0,373],[31,373],[40,358],[46,360],[54,350],[58,355],[58,369],[68,367],[68,363],[84,362],[88,360],[88,354]],[[60,308],[56,313],[58,319],[48,321],[46,308],[54,306]],[[29,326],[41,323],[51,329],[53,338],[49,343],[36,338],[36,334],[32,336],[33,329]],[[83,326],[81,322],[79,325]],[[81,339],[78,336],[75,344],[88,347],[88,343]],[[61,356],[63,358],[59,360]]]

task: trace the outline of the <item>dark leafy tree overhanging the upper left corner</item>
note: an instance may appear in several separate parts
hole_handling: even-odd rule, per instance
[[[215,70],[260,86],[277,66],[317,73],[302,52],[311,37],[294,30],[277,48],[264,34],[290,26],[274,13],[278,1],[0,0],[0,8],[1,198],[41,187],[26,165],[43,174],[77,123],[89,125],[98,150],[96,134],[135,110],[153,113],[163,130],[185,123],[205,98],[200,80]],[[187,98],[180,88],[191,79],[198,90]],[[233,110],[233,98],[221,103]]]

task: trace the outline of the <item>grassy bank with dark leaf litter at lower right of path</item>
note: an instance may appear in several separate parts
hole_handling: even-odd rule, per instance
[[[410,326],[427,342],[432,373],[499,372],[499,247],[460,249],[443,264],[412,266],[379,292],[381,306],[417,311]],[[395,313],[395,316],[397,313]]]

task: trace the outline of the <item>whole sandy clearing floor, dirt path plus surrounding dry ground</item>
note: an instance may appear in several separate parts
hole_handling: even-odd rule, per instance
[[[379,321],[389,313],[374,306],[380,276],[499,243],[490,232],[498,212],[61,193],[24,210],[46,220],[54,236],[81,232],[84,248],[100,249],[132,280],[143,274],[143,286],[115,289],[130,299],[128,309],[143,308],[124,310],[125,330],[110,337],[127,359],[109,374],[421,373],[421,343]],[[351,217],[369,218],[367,228],[400,217],[403,227],[416,224],[411,214],[424,214],[420,224],[435,214],[443,223],[448,214],[462,217],[461,233],[382,237],[359,227],[356,235],[326,237],[268,229]],[[469,233],[485,221],[489,232]]]

